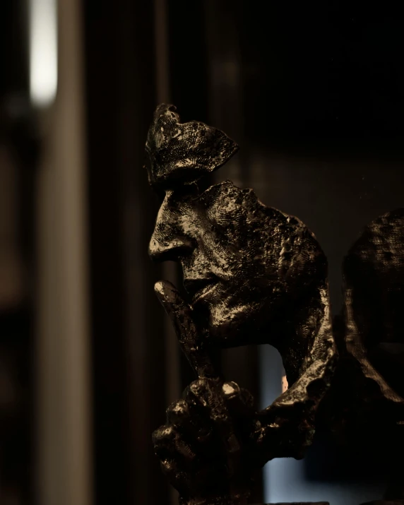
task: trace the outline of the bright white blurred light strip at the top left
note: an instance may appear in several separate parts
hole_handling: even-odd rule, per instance
[[[30,100],[49,107],[57,94],[57,0],[28,0]]]

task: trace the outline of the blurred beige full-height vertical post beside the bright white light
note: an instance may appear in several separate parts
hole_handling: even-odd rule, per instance
[[[83,2],[30,0],[30,4],[32,105],[41,107],[42,136],[35,216],[35,503],[91,505],[93,396]]]

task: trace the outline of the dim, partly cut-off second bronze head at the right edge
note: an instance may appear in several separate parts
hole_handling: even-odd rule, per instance
[[[376,393],[404,405],[404,209],[368,225],[344,263],[347,352]]]

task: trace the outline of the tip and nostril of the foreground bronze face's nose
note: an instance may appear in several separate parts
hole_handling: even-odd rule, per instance
[[[155,230],[150,239],[149,256],[153,261],[178,261],[180,257],[190,254],[194,249],[192,239],[176,234],[170,229],[162,233]]]

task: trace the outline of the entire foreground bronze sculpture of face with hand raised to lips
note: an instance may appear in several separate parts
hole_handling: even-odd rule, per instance
[[[187,300],[164,282],[156,291],[199,376],[190,386],[189,401],[203,397],[201,404],[207,405],[206,398],[222,396],[231,426],[225,445],[234,442],[230,453],[239,453],[238,461],[248,459],[244,453],[254,454],[259,465],[278,456],[301,457],[334,361],[326,258],[301,221],[264,206],[251,189],[226,181],[200,191],[198,180],[220,168],[237,145],[206,124],[182,124],[174,111],[169,105],[158,107],[146,143],[149,182],[165,194],[149,252],[155,261],[178,261],[184,273]],[[290,385],[263,412],[255,412],[251,398],[236,384],[214,379],[209,360],[213,348],[258,343],[280,351]],[[184,502],[191,503],[197,485],[178,481],[186,459],[178,445],[180,439],[185,443],[178,415],[191,419],[188,393],[169,409],[167,425],[155,434],[155,447],[173,484],[188,497]],[[227,405],[229,395],[239,396],[248,407],[248,429],[234,427],[238,420]],[[213,425],[218,417],[208,411]],[[192,461],[201,462],[198,448],[187,446]],[[242,446],[248,447],[244,453]]]

